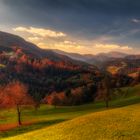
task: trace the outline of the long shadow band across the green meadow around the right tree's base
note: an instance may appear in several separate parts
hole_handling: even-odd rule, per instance
[[[109,102],[109,108],[118,108],[118,107],[124,107],[127,105],[137,104],[140,103],[140,96],[134,96],[130,98],[121,98],[118,100],[112,100]],[[67,114],[67,113],[77,113],[77,112],[88,112],[92,111],[100,111],[105,110],[105,102],[95,102],[91,104],[84,104],[79,106],[69,106],[69,107],[57,107],[57,108],[51,108],[46,110],[39,110],[38,112],[33,111],[32,113],[27,112],[25,115],[35,115],[35,116],[46,116],[46,115],[57,115],[57,114]]]

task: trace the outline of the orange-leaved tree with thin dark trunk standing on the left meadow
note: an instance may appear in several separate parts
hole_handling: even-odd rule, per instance
[[[19,81],[11,82],[6,86],[0,87],[0,107],[16,107],[18,124],[21,125],[21,111],[23,106],[34,104],[33,99],[29,96],[28,88]]]

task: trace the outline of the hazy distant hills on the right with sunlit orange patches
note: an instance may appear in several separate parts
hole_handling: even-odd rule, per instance
[[[121,52],[99,53],[97,55],[67,53],[60,50],[53,50],[59,54],[66,55],[72,59],[84,61],[97,66],[100,70],[107,70],[114,74],[126,74],[136,77],[140,71],[140,55],[130,55]]]

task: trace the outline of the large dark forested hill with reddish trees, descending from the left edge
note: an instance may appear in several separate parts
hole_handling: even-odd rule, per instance
[[[88,83],[84,75],[99,70],[85,62],[51,50],[43,50],[19,36],[0,32],[0,83],[20,81],[28,85],[31,96],[41,96],[77,88]],[[92,76],[92,77],[93,77]],[[73,78],[74,77],[74,78]],[[37,95],[35,92],[37,91]]]

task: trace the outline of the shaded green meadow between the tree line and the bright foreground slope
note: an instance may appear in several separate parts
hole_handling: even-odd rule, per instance
[[[116,96],[114,96],[115,100],[110,102],[110,108],[122,107],[140,102],[140,85],[132,88],[124,88],[123,91],[124,92],[121,93],[122,95],[116,92]],[[104,106],[105,104],[103,102],[98,102],[76,107],[58,107],[56,109],[52,106],[45,105],[41,106],[37,112],[34,109],[25,110],[22,113],[23,122],[35,122],[29,126],[16,127],[9,131],[0,132],[0,139],[49,127],[88,113],[103,111],[105,110]],[[12,124],[15,125],[17,121],[15,114],[16,112],[13,109],[0,112],[0,127],[9,127],[9,125]]]

